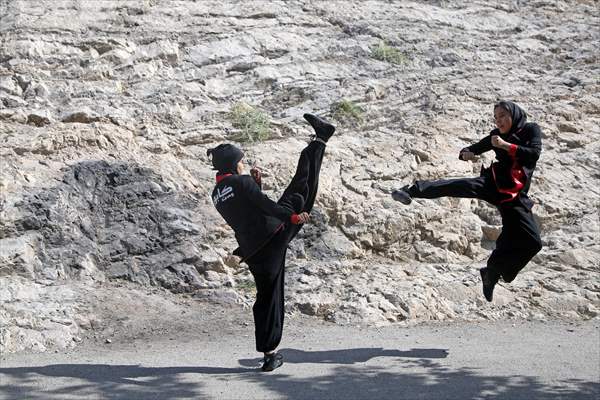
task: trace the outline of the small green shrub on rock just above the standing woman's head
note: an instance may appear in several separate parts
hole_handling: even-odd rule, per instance
[[[271,136],[269,117],[254,107],[239,102],[229,110],[229,119],[239,129],[232,139],[239,142],[261,142]]]

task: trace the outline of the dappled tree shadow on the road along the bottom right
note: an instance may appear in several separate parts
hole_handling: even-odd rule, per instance
[[[285,367],[285,365],[284,365]],[[326,374],[297,378],[286,374],[248,376],[286,399],[488,399],[597,400],[600,384],[568,380],[548,385],[532,376],[494,376],[471,368],[449,368],[428,359],[396,364],[342,365]]]

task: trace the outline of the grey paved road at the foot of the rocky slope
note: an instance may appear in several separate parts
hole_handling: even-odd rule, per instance
[[[205,332],[6,355],[0,399],[600,398],[598,320],[379,329],[292,320],[286,363],[268,374],[253,346],[251,334]]]

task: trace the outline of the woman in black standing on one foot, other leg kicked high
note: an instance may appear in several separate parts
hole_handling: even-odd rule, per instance
[[[212,199],[217,211],[235,232],[239,247],[235,255],[250,267],[256,282],[254,314],[256,349],[264,353],[263,371],[283,364],[276,352],[284,317],[284,269],[289,242],[309,219],[319,186],[319,172],[327,140],[335,127],[321,118],[304,114],[316,136],[300,153],[292,181],[279,201],[261,191],[260,171],[241,175],[244,154],[231,144],[209,149],[216,185]]]

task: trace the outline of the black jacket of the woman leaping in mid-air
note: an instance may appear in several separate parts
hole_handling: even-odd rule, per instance
[[[492,146],[493,135],[500,135],[500,131],[498,129],[492,130],[479,142],[462,149],[461,153],[463,151],[470,151],[479,155],[486,151],[494,150],[497,161],[494,162],[492,168],[494,168],[496,174],[496,184],[499,188],[510,188],[513,186],[511,177],[513,159],[506,150]],[[500,137],[508,143],[517,145],[516,161],[518,166],[523,169],[526,177],[521,193],[527,194],[533,171],[542,152],[542,132],[540,127],[535,123],[526,123],[521,130],[509,133],[508,135],[500,135]]]

